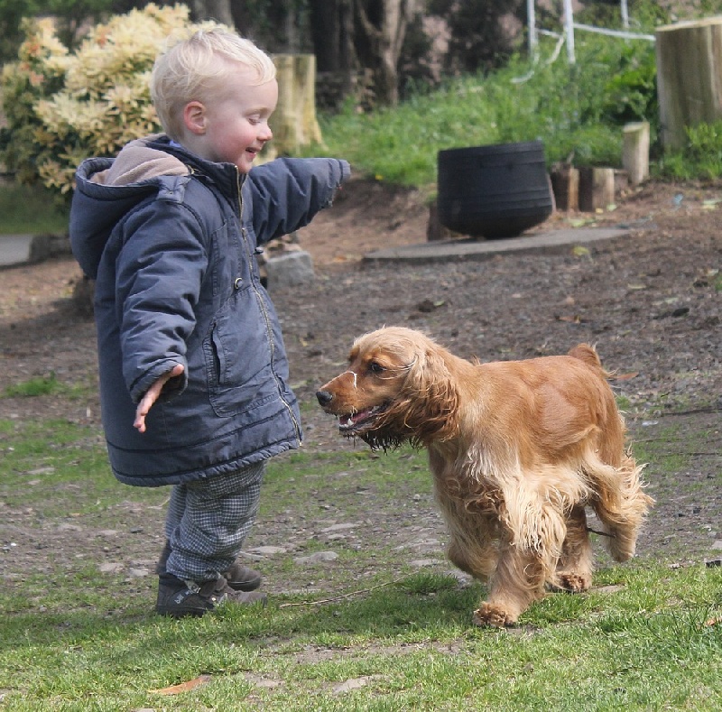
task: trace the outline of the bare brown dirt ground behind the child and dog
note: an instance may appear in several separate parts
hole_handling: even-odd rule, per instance
[[[306,447],[352,447],[314,393],[365,331],[420,328],[458,356],[483,361],[565,353],[588,341],[616,372],[633,448],[686,458],[680,471],[661,462],[647,467],[657,505],[640,555],[679,562],[722,556],[722,184],[649,183],[621,194],[615,209],[556,213],[531,231],[628,229],[589,249],[423,265],[362,259],[382,246],[424,242],[428,216],[416,192],[351,180],[334,207],[298,234],[316,278],[272,296],[292,384],[308,403]],[[95,382],[92,319],[71,298],[79,279],[69,257],[0,271],[0,393],[51,373],[65,383]],[[0,398],[0,419],[47,417],[98,424],[97,398]],[[12,521],[15,530],[27,524],[21,511]],[[395,523],[388,526],[393,532]],[[78,537],[58,543],[83,546]]]

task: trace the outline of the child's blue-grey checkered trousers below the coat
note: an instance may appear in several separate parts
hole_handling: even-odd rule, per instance
[[[208,581],[230,568],[258,513],[265,462],[228,475],[173,485],[165,521],[166,570]]]

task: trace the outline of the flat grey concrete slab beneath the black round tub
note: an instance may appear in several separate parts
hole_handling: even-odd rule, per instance
[[[439,262],[442,260],[485,260],[509,252],[552,253],[569,249],[570,245],[589,245],[629,234],[628,230],[604,227],[580,227],[552,230],[536,235],[510,237],[503,240],[440,240],[420,245],[387,247],[364,255],[367,261]]]

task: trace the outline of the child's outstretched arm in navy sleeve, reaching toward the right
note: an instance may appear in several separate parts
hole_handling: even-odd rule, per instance
[[[256,166],[246,185],[259,244],[308,225],[350,174],[348,163],[336,158],[279,158]]]

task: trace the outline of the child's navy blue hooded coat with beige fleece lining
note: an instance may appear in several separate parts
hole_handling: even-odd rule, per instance
[[[129,485],[176,484],[299,447],[281,328],[255,254],[329,206],[347,162],[278,159],[245,176],[165,136],[129,147],[80,165],[70,213],[73,254],[96,280],[114,474]],[[176,364],[185,373],[138,432],[136,404]]]

